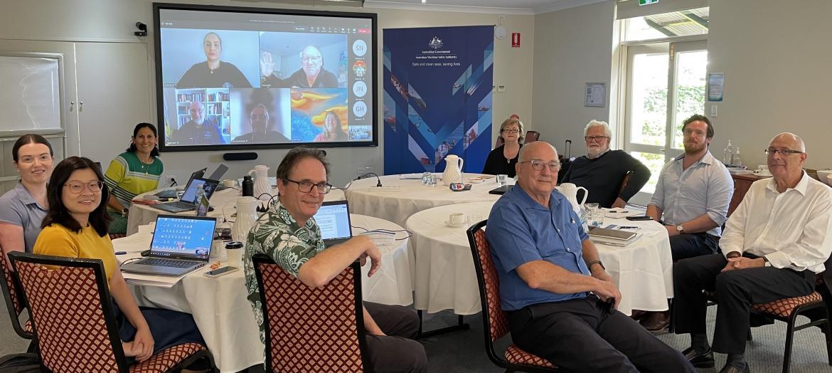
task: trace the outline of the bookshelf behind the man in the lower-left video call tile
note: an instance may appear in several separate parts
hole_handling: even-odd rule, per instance
[[[229,135],[228,88],[191,88],[176,90],[176,128],[191,120],[191,102],[202,102],[206,121],[220,126],[222,134]]]

